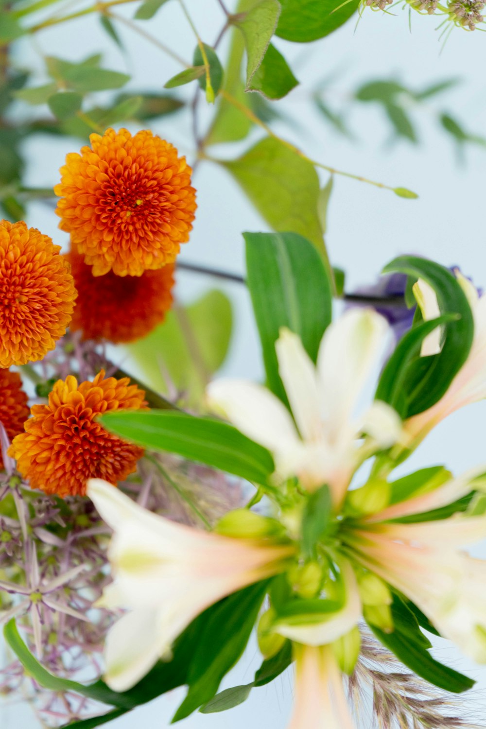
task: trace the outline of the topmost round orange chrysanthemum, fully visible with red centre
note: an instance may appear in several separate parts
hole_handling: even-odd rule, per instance
[[[60,168],[56,213],[93,276],[141,276],[172,263],[189,240],[196,209],[192,169],[150,131],[90,136]]]

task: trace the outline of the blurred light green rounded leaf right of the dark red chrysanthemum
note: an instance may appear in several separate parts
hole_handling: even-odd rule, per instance
[[[166,372],[188,402],[200,402],[208,378],[226,358],[231,330],[230,300],[213,289],[187,308],[172,310],[148,336],[126,345],[126,367],[135,363],[147,385],[162,392],[170,384],[162,375]]]

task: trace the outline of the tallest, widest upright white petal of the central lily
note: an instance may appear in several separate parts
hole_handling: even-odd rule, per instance
[[[372,309],[350,309],[329,324],[318,354],[321,416],[332,442],[350,421],[388,325]]]

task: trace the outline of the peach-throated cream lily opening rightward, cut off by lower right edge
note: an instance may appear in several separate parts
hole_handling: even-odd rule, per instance
[[[486,538],[486,515],[385,522],[455,501],[471,491],[472,477],[447,482],[431,494],[373,515],[348,543],[357,561],[412,600],[444,638],[469,658],[486,663],[486,561],[462,550]]]

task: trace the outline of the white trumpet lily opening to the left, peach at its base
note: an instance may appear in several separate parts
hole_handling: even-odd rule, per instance
[[[198,531],[152,514],[101,479],[87,495],[114,530],[103,607],[126,608],[106,640],[106,682],[135,685],[200,612],[285,569],[293,547]]]

